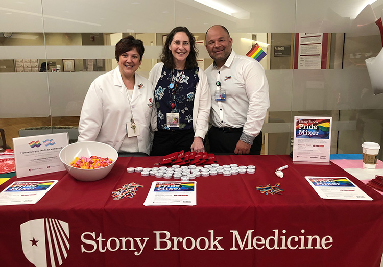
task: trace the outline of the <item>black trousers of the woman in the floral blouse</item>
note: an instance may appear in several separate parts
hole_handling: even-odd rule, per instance
[[[190,151],[194,130],[158,130],[154,132],[151,156],[166,156],[173,152]]]

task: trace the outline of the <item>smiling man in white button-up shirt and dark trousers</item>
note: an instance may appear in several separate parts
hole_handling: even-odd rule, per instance
[[[259,62],[235,54],[232,44],[224,26],[207,30],[206,49],[214,60],[205,70],[212,98],[210,152],[260,155],[269,84]]]

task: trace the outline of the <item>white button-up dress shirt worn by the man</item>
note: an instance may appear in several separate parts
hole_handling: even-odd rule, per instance
[[[264,124],[270,107],[269,84],[264,68],[253,58],[232,50],[220,69],[215,63],[205,73],[211,91],[210,121],[215,127],[243,127],[243,136],[252,144]],[[226,91],[226,101],[216,101],[215,91]],[[241,136],[241,140],[243,137]]]

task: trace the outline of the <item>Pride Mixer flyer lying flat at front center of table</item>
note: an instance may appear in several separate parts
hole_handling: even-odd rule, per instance
[[[197,205],[197,182],[160,182],[150,187],[145,206]]]

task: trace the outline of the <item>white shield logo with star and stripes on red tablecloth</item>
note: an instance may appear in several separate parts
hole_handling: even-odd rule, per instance
[[[22,252],[36,267],[60,266],[69,251],[69,225],[57,219],[35,219],[20,225]]]

